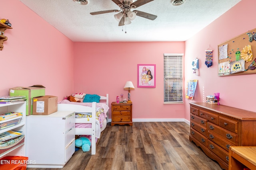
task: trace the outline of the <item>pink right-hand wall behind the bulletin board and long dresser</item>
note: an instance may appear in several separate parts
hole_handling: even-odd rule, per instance
[[[194,37],[186,41],[185,80],[198,80],[194,100],[185,100],[185,119],[189,120],[189,102],[204,102],[206,96],[220,92],[220,104],[256,111],[254,85],[256,74],[218,77],[218,45],[256,28],[256,1],[242,0]],[[205,50],[213,49],[213,66],[207,67]],[[254,52],[255,55],[256,51]],[[192,74],[191,63],[199,59],[199,76]]]

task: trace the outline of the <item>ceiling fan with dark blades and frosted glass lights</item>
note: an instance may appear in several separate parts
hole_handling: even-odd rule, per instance
[[[155,20],[156,15],[148,14],[146,12],[134,10],[131,11],[132,8],[138,8],[148,2],[153,0],[112,0],[115,4],[117,4],[121,9],[120,10],[106,10],[106,11],[98,11],[98,12],[91,12],[91,15],[98,15],[98,14],[106,14],[110,12],[119,12],[118,14],[114,15],[116,20],[119,22],[118,26],[130,24],[132,20],[135,19],[136,16],[140,16],[149,20]]]

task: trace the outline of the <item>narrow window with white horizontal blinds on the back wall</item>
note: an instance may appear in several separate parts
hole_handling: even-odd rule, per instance
[[[183,103],[183,54],[164,54],[164,103]]]

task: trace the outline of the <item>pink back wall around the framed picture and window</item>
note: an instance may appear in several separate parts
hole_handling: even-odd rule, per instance
[[[74,43],[74,92],[109,94],[110,102],[132,81],[133,119],[184,118],[184,104],[164,104],[163,54],[184,53],[184,42]],[[137,64],[156,64],[156,88],[137,88]],[[111,107],[111,105],[110,105]],[[111,117],[111,116],[110,116]]]

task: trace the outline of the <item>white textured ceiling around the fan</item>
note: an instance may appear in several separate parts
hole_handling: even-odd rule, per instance
[[[88,0],[87,5],[73,0],[20,1],[72,41],[113,42],[186,41],[241,0],[186,0],[181,6],[172,6],[170,0],[154,0],[136,10],[158,16],[155,20],[136,16],[124,26],[118,26],[114,18],[118,12],[90,15],[120,10],[112,0]]]

